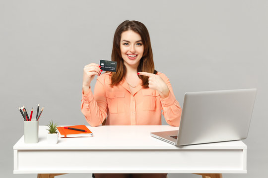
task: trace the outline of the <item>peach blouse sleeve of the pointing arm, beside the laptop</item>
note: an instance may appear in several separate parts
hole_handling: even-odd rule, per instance
[[[160,73],[159,75],[165,81],[169,88],[168,97],[162,99],[159,96],[161,101],[161,109],[163,111],[162,114],[164,115],[166,122],[170,126],[180,126],[182,108],[175,98],[169,79],[163,73]]]

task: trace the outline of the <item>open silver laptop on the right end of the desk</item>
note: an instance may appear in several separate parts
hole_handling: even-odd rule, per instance
[[[257,89],[186,92],[177,131],[151,136],[176,146],[232,141],[248,136]]]

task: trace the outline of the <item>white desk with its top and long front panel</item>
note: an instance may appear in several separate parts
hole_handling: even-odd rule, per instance
[[[242,141],[174,146],[150,132],[178,127],[88,128],[93,137],[60,138],[58,144],[47,144],[46,126],[39,127],[38,143],[24,143],[22,136],[13,147],[13,173],[247,173]]]

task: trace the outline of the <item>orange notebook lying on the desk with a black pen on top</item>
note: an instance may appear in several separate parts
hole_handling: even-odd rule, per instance
[[[81,129],[85,130],[86,132],[81,131],[74,131],[70,129],[65,129],[64,127],[58,127],[59,136],[62,137],[80,137],[80,136],[92,136],[92,132],[85,126],[85,125],[79,125],[79,126],[68,126],[70,128],[75,129]]]

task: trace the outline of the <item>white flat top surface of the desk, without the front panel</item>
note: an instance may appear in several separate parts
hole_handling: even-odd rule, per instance
[[[13,149],[247,149],[242,141],[174,146],[150,136],[151,132],[178,130],[171,126],[87,126],[92,137],[59,138],[58,144],[47,144],[46,126],[39,128],[38,143],[24,143],[23,136]]]

